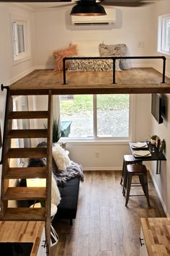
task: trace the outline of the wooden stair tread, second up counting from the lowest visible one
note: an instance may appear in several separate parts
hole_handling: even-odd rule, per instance
[[[3,200],[45,199],[46,187],[8,187]]]

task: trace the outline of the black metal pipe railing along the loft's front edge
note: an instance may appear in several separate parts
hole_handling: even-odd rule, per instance
[[[106,57],[65,57],[63,58],[63,85],[66,85],[66,61],[73,59],[112,59],[113,61],[113,84],[115,81],[115,61],[117,59],[163,59],[162,83],[165,83],[166,57],[165,56],[106,56]]]

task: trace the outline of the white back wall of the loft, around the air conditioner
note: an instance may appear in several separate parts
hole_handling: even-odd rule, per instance
[[[117,7],[113,26],[73,26],[69,15],[71,7],[45,10],[35,13],[35,64],[37,67],[53,67],[53,51],[64,48],[75,40],[98,40],[101,43],[126,43],[131,56],[151,54],[152,6],[140,8]],[[138,42],[144,41],[144,48]],[[148,61],[135,61],[148,64]]]

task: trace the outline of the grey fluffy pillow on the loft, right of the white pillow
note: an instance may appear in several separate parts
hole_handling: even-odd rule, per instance
[[[125,43],[106,45],[104,43],[99,44],[99,54],[100,56],[126,56],[128,52],[128,47]],[[117,59],[120,69],[130,69],[130,61],[128,59]]]

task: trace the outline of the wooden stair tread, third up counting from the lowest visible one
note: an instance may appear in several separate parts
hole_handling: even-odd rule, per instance
[[[9,168],[4,175],[4,179],[29,179],[46,178],[46,167],[16,167]]]

